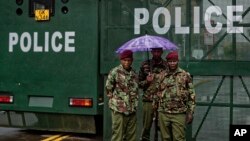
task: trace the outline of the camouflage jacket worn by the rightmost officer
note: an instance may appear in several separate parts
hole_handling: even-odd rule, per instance
[[[163,71],[158,78],[158,111],[166,113],[194,112],[195,91],[190,74],[181,68],[174,73]]]

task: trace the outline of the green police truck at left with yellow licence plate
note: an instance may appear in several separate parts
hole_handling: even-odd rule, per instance
[[[96,133],[103,111],[99,1],[0,5],[0,124]]]

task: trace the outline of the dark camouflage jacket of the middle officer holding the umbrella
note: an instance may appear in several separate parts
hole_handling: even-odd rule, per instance
[[[150,66],[151,65],[151,66]],[[153,59],[146,60],[142,62],[139,71],[139,87],[143,90],[143,101],[153,101],[153,95],[156,94],[156,80],[151,82],[150,84],[147,83],[147,75],[150,72],[150,67],[152,68],[152,74],[159,74],[163,70],[167,68],[166,61],[161,59],[159,63],[156,63]]]

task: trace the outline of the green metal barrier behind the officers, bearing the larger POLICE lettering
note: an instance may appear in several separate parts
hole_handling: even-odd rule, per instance
[[[131,38],[145,33],[157,35],[152,27],[152,16],[156,8],[169,10],[171,27],[165,36],[179,46],[180,66],[188,70],[194,78],[197,93],[197,108],[192,126],[188,126],[188,141],[229,140],[230,124],[249,124],[249,75],[250,75],[250,21],[248,0],[104,0],[102,13],[101,38],[101,74],[106,75],[110,69],[119,64],[115,50]],[[243,27],[243,33],[228,33],[227,6],[243,6],[243,21],[234,26]],[[194,7],[199,7],[199,33],[194,33]],[[208,34],[204,16],[210,6],[218,6],[222,15],[212,16],[214,21],[222,23],[219,33]],[[180,7],[181,25],[190,27],[188,34],[176,34],[175,7]],[[141,26],[139,35],[134,34],[134,9],[146,8],[149,21]],[[178,16],[178,15],[177,15]],[[125,22],[124,22],[125,21]],[[164,24],[159,22],[159,24]],[[114,40],[115,37],[115,40]],[[167,53],[167,52],[165,52]],[[134,68],[139,69],[143,53],[135,53]],[[164,55],[165,56],[165,55]],[[107,102],[107,101],[106,101]],[[140,105],[141,106],[141,105]],[[110,125],[108,107],[105,107],[104,121]],[[141,107],[139,107],[140,109]],[[242,116],[244,113],[244,116]],[[242,117],[242,118],[241,118]],[[243,118],[245,117],[245,118]],[[138,111],[137,137],[141,134],[141,112]],[[110,139],[111,128],[105,126],[105,140]]]

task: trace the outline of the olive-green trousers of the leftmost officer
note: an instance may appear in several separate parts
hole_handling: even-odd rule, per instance
[[[136,141],[136,114],[125,115],[111,111],[111,141]]]

